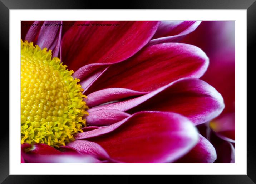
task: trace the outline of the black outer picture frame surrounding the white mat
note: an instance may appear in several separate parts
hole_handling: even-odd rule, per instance
[[[9,10],[11,9],[246,9],[247,10],[247,58],[252,60],[253,45],[256,41],[256,1],[255,0],[145,0],[145,1],[123,1],[111,3],[109,1],[83,1],[83,0],[0,0],[0,22],[1,22],[1,52],[7,56],[9,61]],[[254,58],[255,60],[255,58]],[[2,62],[3,63],[3,62]],[[247,61],[248,63],[248,61]],[[8,66],[7,63],[5,63]],[[3,65],[3,64],[2,64]],[[9,66],[8,66],[9,67]],[[9,71],[9,70],[5,70]],[[3,74],[1,74],[3,75]],[[6,75],[5,75],[6,76]],[[248,80],[252,78],[247,74]],[[6,85],[7,86],[7,85]],[[247,92],[248,96],[248,92]],[[9,96],[9,99],[13,98]],[[250,103],[253,103],[250,101]],[[249,110],[249,109],[248,109]],[[3,112],[2,112],[3,113]],[[247,112],[248,113],[248,112]],[[7,117],[7,116],[6,116]],[[240,122],[243,123],[243,122]],[[244,122],[246,123],[246,122]],[[171,177],[167,181],[176,179],[178,183],[256,183],[256,144],[254,133],[254,121],[247,123],[247,175],[196,175],[196,176],[166,176]],[[0,156],[0,183],[51,183],[53,176],[9,176],[9,124],[1,123],[1,156]],[[83,178],[82,178],[83,177]],[[113,179],[115,177],[115,179]],[[86,179],[85,179],[86,178]],[[73,181],[90,180],[92,176],[73,176]],[[154,179],[147,177],[152,182]],[[55,176],[59,183],[67,183],[67,176]],[[97,181],[102,177],[97,176]],[[162,178],[164,179],[164,178]],[[171,180],[170,180],[171,179]],[[104,181],[115,182],[116,176],[104,177]],[[122,178],[121,183],[133,182],[135,176]],[[120,181],[120,180],[119,180]],[[158,180],[156,180],[158,181]],[[158,181],[159,182],[159,181]],[[97,182],[98,183],[98,182]]]

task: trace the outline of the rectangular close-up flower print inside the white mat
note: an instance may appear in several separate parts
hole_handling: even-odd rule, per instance
[[[21,163],[235,163],[235,21],[21,21]]]

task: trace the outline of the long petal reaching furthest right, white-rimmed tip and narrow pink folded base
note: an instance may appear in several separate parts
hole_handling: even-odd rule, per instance
[[[224,103],[220,93],[206,82],[196,78],[183,78],[143,96],[91,108],[117,109],[134,113],[145,109],[169,111],[188,117],[195,125],[217,117]]]

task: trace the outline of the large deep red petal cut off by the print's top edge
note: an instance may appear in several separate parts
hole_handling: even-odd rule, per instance
[[[78,26],[83,23],[120,26]],[[74,71],[91,63],[121,62],[146,45],[158,25],[158,21],[77,21],[63,36],[61,60]]]

